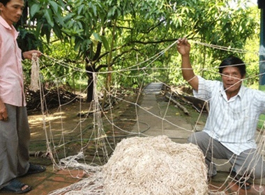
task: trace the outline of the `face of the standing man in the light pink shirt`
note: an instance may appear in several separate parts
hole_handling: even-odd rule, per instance
[[[10,0],[6,6],[0,3],[0,15],[11,26],[20,20],[24,9],[24,0]]]

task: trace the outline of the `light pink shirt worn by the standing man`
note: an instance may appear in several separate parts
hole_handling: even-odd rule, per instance
[[[18,32],[0,16],[0,98],[6,104],[26,106]]]

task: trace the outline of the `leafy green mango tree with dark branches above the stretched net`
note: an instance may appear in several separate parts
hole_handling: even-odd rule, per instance
[[[245,3],[247,0],[239,0]],[[255,30],[255,20],[247,8],[230,8],[230,1],[216,0],[39,0],[28,1],[28,24],[36,26],[35,34],[56,36],[69,42],[85,63],[88,75],[87,102],[93,100],[93,72],[107,70],[106,87],[111,85],[111,70],[144,62],[176,41],[188,36],[209,44],[233,43],[243,48],[246,38]],[[199,48],[202,50],[202,48]],[[202,50],[203,51],[203,50]],[[153,63],[157,68],[170,63],[175,49]],[[223,55],[215,51],[209,56]],[[207,54],[207,55],[206,55]],[[142,63],[144,67],[146,63]],[[141,68],[141,67],[140,67]],[[149,70],[146,70],[149,71]],[[167,71],[167,70],[163,70]],[[128,72],[128,75],[137,71]],[[164,73],[169,75],[169,72]],[[125,80],[124,83],[136,83]]]

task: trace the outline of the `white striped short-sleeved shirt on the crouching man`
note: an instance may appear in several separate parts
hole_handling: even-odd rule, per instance
[[[221,81],[198,79],[198,91],[193,93],[210,106],[203,131],[236,155],[256,148],[255,131],[259,115],[265,111],[265,93],[241,85],[239,93],[227,100]]]

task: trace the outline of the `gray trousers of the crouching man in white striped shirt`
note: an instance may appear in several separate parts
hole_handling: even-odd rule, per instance
[[[209,169],[209,176],[214,176],[217,173],[213,158],[227,159],[232,164],[232,169],[239,176],[250,176],[254,179],[261,179],[265,176],[265,163],[262,155],[259,155],[255,148],[245,150],[240,155],[236,155],[223,146],[222,143],[209,137],[205,132],[195,132],[188,138],[188,142],[194,143],[201,148]]]

